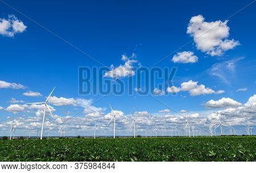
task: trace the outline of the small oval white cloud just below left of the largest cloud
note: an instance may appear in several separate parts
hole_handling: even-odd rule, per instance
[[[193,52],[190,51],[184,51],[184,52],[179,52],[175,54],[174,57],[172,57],[172,61],[175,63],[195,63],[198,61],[198,57],[193,55]]]

